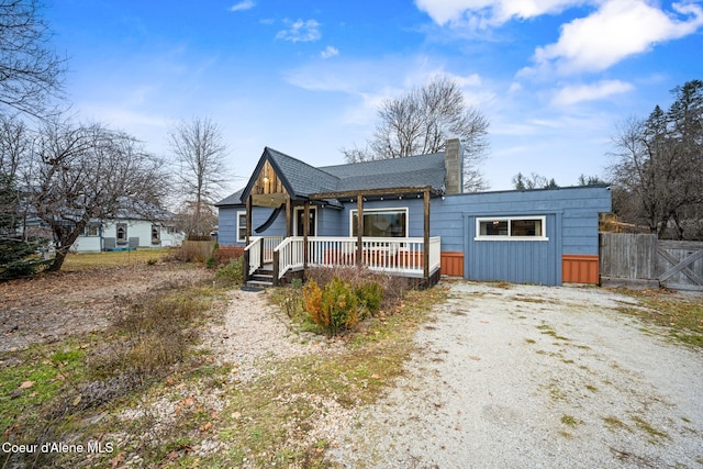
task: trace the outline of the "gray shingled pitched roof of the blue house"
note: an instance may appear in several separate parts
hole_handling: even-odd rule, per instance
[[[445,189],[444,153],[320,168],[268,147],[265,148],[264,156],[268,157],[277,168],[283,185],[294,196],[300,197],[325,192],[427,186],[437,191]],[[215,205],[243,204],[242,196],[246,188],[238,190]]]

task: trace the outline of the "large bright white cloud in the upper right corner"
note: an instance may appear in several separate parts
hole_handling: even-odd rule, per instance
[[[607,0],[590,16],[565,24],[556,43],[537,47],[536,67],[522,74],[601,71],[703,25],[700,5],[673,3],[672,9],[666,12],[645,0]]]

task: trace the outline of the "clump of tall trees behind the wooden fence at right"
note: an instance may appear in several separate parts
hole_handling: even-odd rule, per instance
[[[673,228],[674,237],[685,238],[703,206],[703,82],[689,81],[672,93],[668,112],[657,105],[646,120],[618,126],[610,171],[624,220],[659,237]]]

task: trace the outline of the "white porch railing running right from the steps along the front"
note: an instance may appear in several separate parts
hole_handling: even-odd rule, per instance
[[[361,241],[361,263],[371,270],[408,277],[424,276],[424,238],[365,237]],[[429,273],[439,268],[440,238],[429,238]],[[279,256],[278,278],[290,270],[302,269],[305,264],[303,237],[283,239],[275,249]],[[309,237],[309,266],[354,266],[358,248],[354,237]]]

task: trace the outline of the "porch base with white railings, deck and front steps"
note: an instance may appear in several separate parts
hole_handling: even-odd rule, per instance
[[[438,236],[258,236],[244,249],[244,276],[250,281],[265,270],[277,286],[309,267],[364,266],[431,283],[439,273],[439,252]]]

